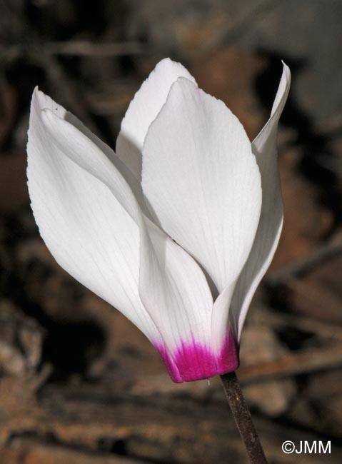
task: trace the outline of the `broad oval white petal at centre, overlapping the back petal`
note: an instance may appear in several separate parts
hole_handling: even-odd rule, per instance
[[[219,292],[233,288],[258,226],[261,180],[251,143],[223,102],[187,79],[173,84],[145,139],[142,185],[164,231]],[[213,314],[218,346],[228,308]]]

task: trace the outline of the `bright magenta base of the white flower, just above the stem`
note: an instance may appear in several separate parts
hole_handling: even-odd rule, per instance
[[[212,348],[196,341],[181,342],[181,346],[172,355],[165,346],[156,346],[161,354],[173,382],[181,383],[201,380],[217,374],[232,372],[238,368],[238,343],[229,333],[220,353],[213,353]]]

